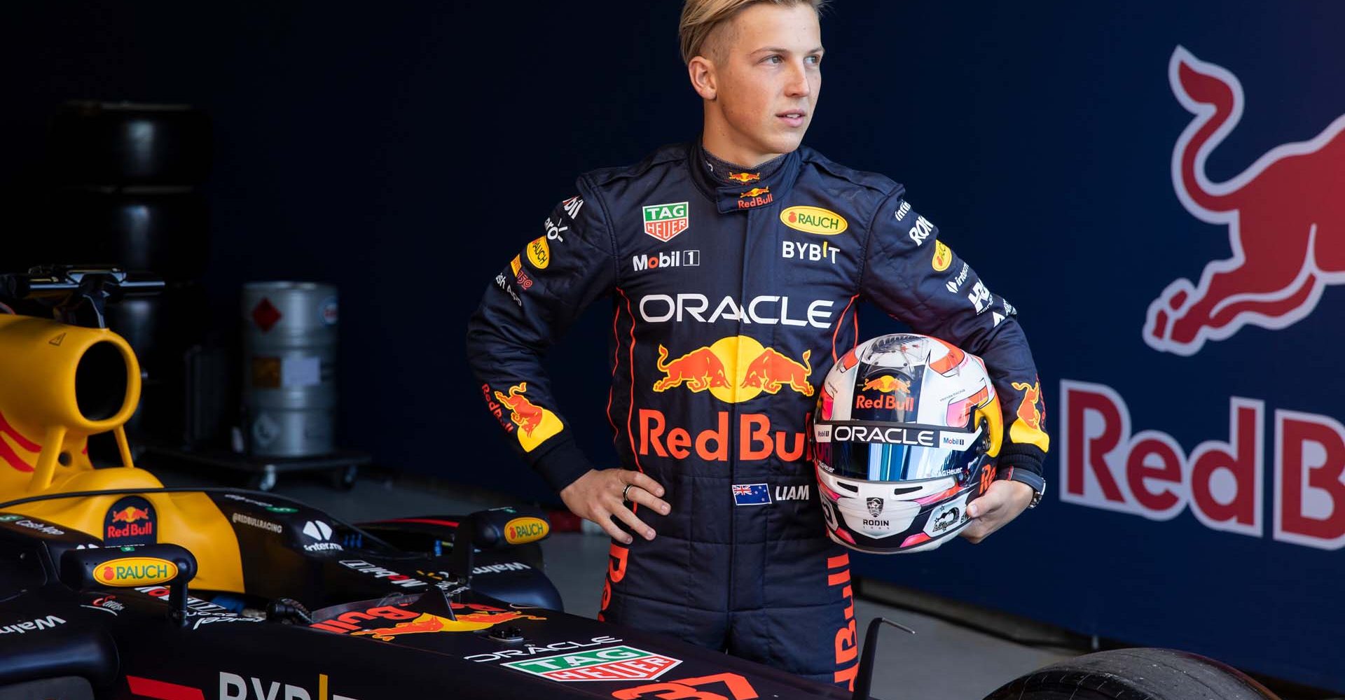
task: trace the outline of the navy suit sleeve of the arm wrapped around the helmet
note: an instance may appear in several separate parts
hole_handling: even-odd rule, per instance
[[[915,332],[986,361],[1005,414],[999,465],[1041,476],[1050,438],[1018,312],[939,239],[939,228],[911,210],[904,192],[888,198],[869,227],[859,293]]]

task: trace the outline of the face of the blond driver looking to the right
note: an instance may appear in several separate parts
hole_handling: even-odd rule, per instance
[[[808,4],[755,4],[720,36],[716,98],[734,142],[760,153],[799,148],[822,89],[822,30]]]

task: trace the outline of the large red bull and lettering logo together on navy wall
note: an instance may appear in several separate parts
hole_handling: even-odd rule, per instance
[[[1345,281],[1345,238],[1336,232],[1345,219],[1345,140],[1337,138],[1345,116],[1313,140],[1275,146],[1241,175],[1212,183],[1205,161],[1241,118],[1241,85],[1182,47],[1167,77],[1196,114],[1173,149],[1173,187],[1193,216],[1227,226],[1233,254],[1208,263],[1198,283],[1171,282],[1149,305],[1145,343],[1190,356],[1248,324],[1286,328],[1313,312],[1326,285]],[[1018,422],[1030,423],[1037,387],[1014,388],[1026,390]],[[1167,433],[1134,431],[1124,399],[1104,384],[1061,380],[1060,414],[1065,502],[1149,520],[1190,511],[1221,532],[1264,537],[1268,529],[1282,543],[1345,547],[1345,426],[1329,415],[1267,415],[1266,402],[1232,396],[1227,441],[1186,451]]]

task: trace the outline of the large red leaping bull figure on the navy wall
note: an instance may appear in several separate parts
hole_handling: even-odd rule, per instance
[[[1298,322],[1326,285],[1345,282],[1345,138],[1337,138],[1345,114],[1311,140],[1275,146],[1236,177],[1212,183],[1205,163],[1241,120],[1241,83],[1180,46],[1167,79],[1196,114],[1173,148],[1173,188],[1193,216],[1228,227],[1232,249],[1205,266],[1198,283],[1177,279],[1149,305],[1145,343],[1189,356],[1248,324],[1274,331]]]

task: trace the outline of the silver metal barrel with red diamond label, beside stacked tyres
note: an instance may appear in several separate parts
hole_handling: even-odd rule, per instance
[[[335,450],[336,288],[243,285],[243,410],[247,451],[315,457]]]

